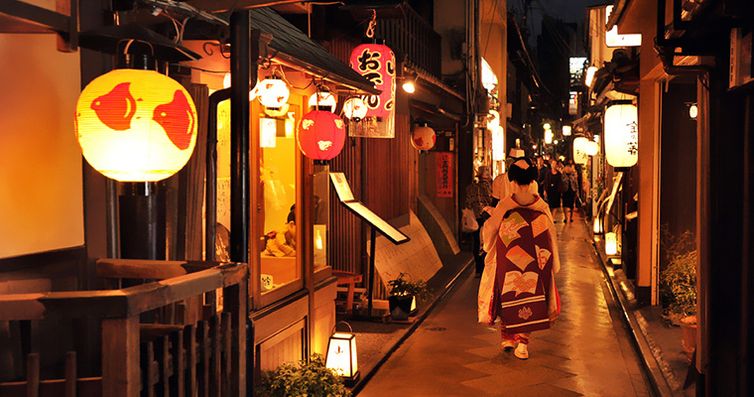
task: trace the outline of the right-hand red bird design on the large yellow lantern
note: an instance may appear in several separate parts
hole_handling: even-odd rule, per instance
[[[173,101],[155,106],[152,119],[161,125],[170,141],[181,150],[191,144],[194,114],[183,92],[176,90]]]

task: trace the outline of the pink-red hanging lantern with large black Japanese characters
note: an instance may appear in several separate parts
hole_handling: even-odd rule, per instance
[[[351,51],[351,68],[381,90],[364,97],[367,117],[387,118],[395,108],[395,54],[384,44],[368,43]]]

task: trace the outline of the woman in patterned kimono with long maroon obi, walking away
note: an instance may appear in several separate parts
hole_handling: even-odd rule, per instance
[[[502,198],[482,228],[485,258],[479,285],[479,322],[500,318],[501,346],[529,358],[529,335],[550,328],[560,312],[555,273],[560,270],[557,233],[547,203],[532,193],[531,160],[516,159],[508,172],[513,192]]]

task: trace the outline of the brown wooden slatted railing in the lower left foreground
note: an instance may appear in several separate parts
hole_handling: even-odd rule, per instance
[[[246,264],[110,260],[97,275],[136,284],[96,291],[0,295],[0,321],[94,319],[101,329],[100,376],[40,379],[40,354],[24,352],[25,379],[0,396],[239,396],[246,394]],[[141,284],[138,284],[141,283]],[[222,307],[214,297],[222,289]],[[23,336],[22,336],[23,338]]]

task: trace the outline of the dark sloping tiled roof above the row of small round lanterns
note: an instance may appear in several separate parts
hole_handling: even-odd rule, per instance
[[[270,8],[257,8],[250,11],[252,29],[272,36],[269,46],[279,51],[291,61],[316,74],[324,74],[340,84],[365,92],[378,93],[372,83],[348,65],[337,60],[321,45],[312,41],[306,34],[286,21]],[[280,55],[280,54],[279,54]]]

